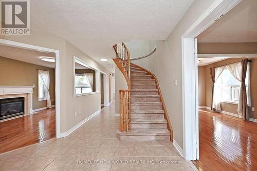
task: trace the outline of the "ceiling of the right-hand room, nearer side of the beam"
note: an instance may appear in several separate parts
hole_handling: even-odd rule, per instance
[[[256,0],[243,0],[199,34],[198,42],[257,42],[256,9]]]

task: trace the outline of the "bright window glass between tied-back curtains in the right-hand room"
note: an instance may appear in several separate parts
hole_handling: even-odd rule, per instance
[[[234,78],[230,73],[229,69],[226,67],[222,72],[221,76],[218,77],[216,81],[219,90],[219,97],[221,101],[238,103],[241,82]],[[250,106],[250,79],[249,79],[249,63],[247,67],[247,74],[245,79],[246,84],[246,94],[247,103]]]

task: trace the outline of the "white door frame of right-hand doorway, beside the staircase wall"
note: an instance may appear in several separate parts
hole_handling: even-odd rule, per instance
[[[216,0],[181,36],[183,157],[199,159],[198,73],[195,37],[242,0]]]

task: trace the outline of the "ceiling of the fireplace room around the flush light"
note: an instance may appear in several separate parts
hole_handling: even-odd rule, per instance
[[[41,60],[41,56],[55,57],[54,53],[46,53],[11,46],[0,45],[0,56],[15,60],[20,60],[35,65],[44,66],[48,68],[55,68],[55,62],[46,62]]]

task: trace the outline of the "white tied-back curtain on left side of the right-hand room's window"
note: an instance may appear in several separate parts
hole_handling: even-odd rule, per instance
[[[220,99],[221,99],[221,94],[219,93],[218,90],[218,85],[216,84],[216,81],[219,76],[221,76],[222,72],[225,70],[226,66],[218,67],[215,68],[214,72],[214,89],[213,89],[213,99],[212,99],[212,109],[213,111],[221,111],[221,104],[219,104]]]

